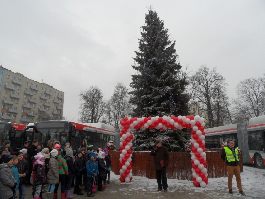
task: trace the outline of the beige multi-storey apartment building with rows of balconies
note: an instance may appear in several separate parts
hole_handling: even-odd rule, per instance
[[[64,92],[0,66],[0,121],[28,124],[62,120]]]

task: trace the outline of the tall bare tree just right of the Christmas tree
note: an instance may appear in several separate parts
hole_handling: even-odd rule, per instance
[[[201,107],[201,114],[206,112],[207,127],[231,124],[230,103],[226,96],[225,78],[210,70],[206,65],[201,66],[189,78],[191,103]]]

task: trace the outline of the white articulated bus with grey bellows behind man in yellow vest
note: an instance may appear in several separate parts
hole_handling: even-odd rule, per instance
[[[243,163],[254,163],[258,168],[265,165],[265,115],[251,118],[248,122],[205,129],[205,148],[218,149],[221,143],[234,140],[243,151]]]

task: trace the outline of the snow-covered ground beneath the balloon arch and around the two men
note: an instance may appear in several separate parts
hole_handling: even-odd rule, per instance
[[[243,166],[241,173],[243,191],[246,196],[241,196],[236,186],[235,176],[233,178],[234,195],[228,193],[227,178],[209,178],[205,188],[194,187],[192,181],[168,179],[168,192],[157,192],[157,182],[155,179],[133,176],[133,180],[128,183],[121,183],[119,176],[111,173],[111,182],[114,187],[109,189],[111,193],[119,198],[265,198],[265,169],[258,169],[253,166]],[[154,170],[155,172],[155,170]],[[118,194],[118,195],[117,195]],[[139,195],[137,195],[139,194]]]

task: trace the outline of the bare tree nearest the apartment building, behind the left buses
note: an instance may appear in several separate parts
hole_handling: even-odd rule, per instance
[[[103,93],[97,86],[91,86],[79,94],[81,100],[81,111],[79,121],[99,122],[106,109],[106,102],[103,100]]]

